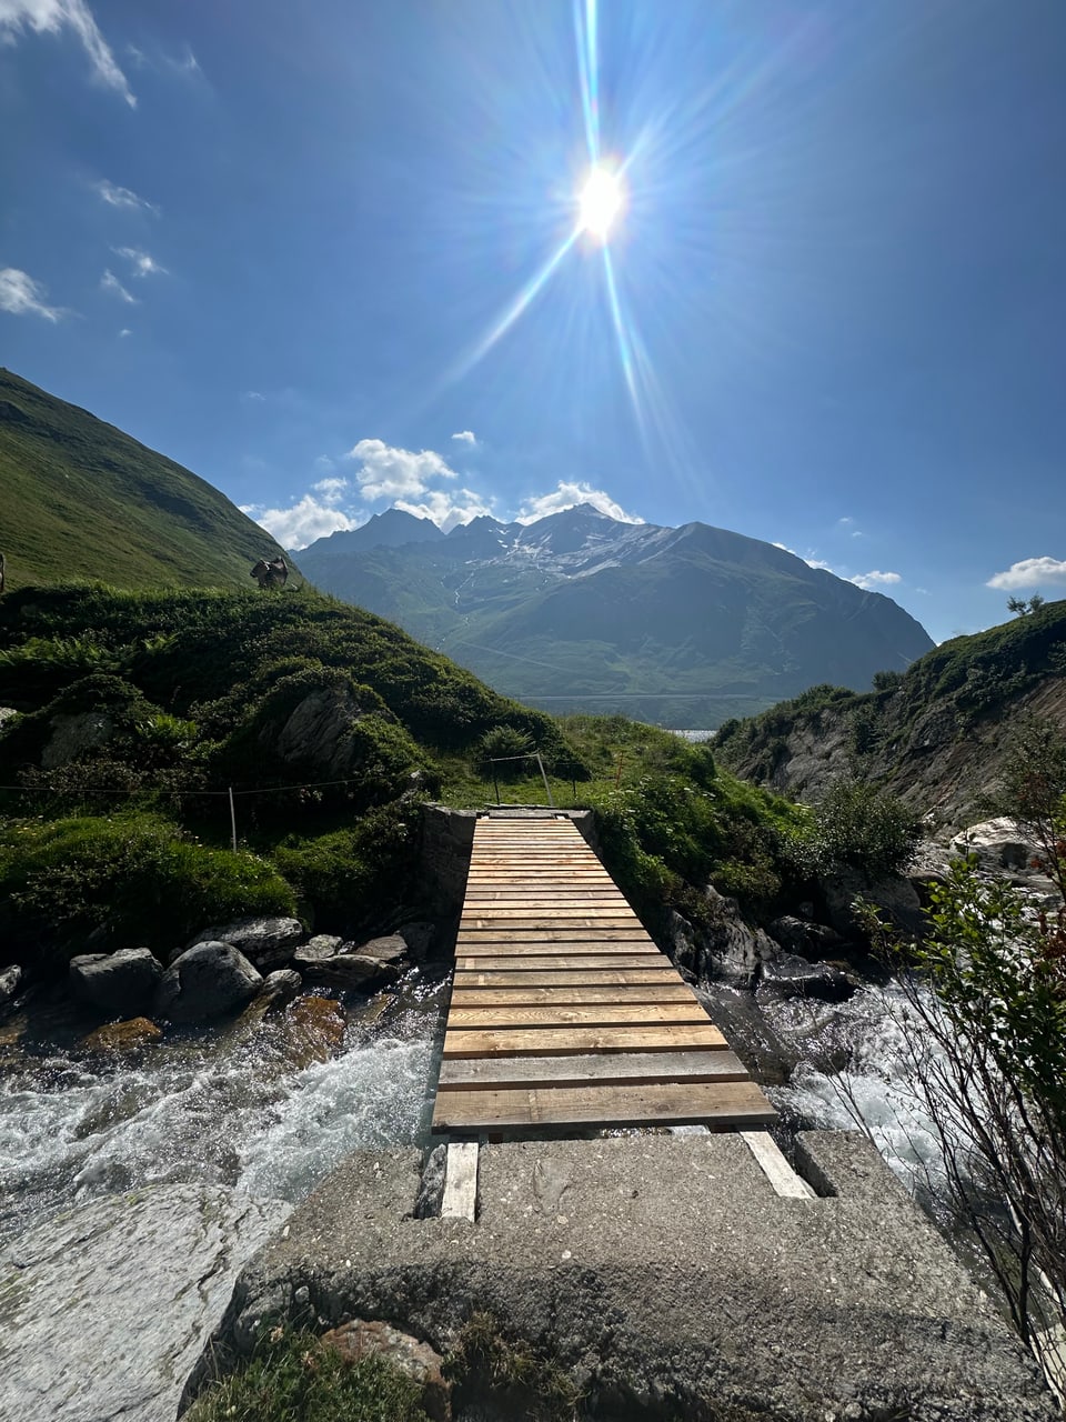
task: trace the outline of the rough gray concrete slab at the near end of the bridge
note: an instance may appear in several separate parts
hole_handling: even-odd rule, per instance
[[[242,1274],[216,1347],[475,1311],[593,1415],[1052,1422],[1029,1357],[861,1136],[809,1132],[785,1199],[736,1135],[482,1146],[476,1221],[411,1216],[421,1155],[352,1156]],[[826,1193],[831,1192],[831,1193]]]

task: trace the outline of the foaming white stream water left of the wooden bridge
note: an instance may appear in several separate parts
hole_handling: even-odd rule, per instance
[[[31,1021],[0,1078],[0,1237],[154,1183],[296,1202],[360,1146],[421,1139],[439,983],[412,975],[374,1022],[330,1012],[325,1037],[279,1014],[129,1055],[67,1042],[61,1014]]]

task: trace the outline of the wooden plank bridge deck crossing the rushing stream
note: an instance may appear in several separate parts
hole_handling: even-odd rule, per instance
[[[434,1129],[773,1119],[574,825],[479,819]]]

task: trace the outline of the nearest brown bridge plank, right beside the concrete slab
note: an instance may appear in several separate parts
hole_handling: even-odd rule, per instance
[[[776,1111],[755,1082],[682,1082],[654,1086],[446,1091],[436,1098],[434,1129],[644,1126],[684,1122],[706,1122],[723,1128],[776,1119]]]

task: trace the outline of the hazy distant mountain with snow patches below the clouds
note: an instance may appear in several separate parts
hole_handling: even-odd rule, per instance
[[[590,505],[448,535],[389,509],[297,556],[324,592],[554,712],[714,728],[819,683],[868,690],[934,646],[891,599],[776,545]]]

